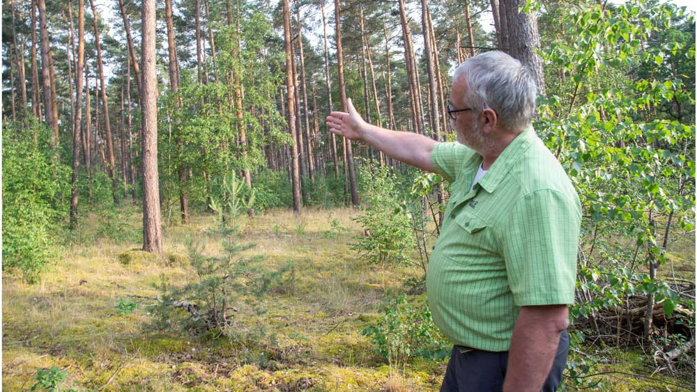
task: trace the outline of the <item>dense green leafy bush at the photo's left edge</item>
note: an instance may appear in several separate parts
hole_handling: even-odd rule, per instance
[[[68,211],[68,166],[57,162],[52,134],[30,116],[3,123],[3,271],[30,283],[54,260],[56,230]]]

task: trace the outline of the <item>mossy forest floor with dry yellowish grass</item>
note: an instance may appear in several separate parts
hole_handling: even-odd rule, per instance
[[[238,338],[211,338],[158,329],[156,301],[133,297],[156,297],[162,276],[170,284],[197,279],[186,262],[119,261],[140,246],[137,207],[93,214],[39,284],[3,274],[3,389],[28,391],[38,369],[57,366],[68,372],[63,387],[76,391],[438,391],[447,359],[413,359],[395,369],[361,333],[376,324],[385,299],[423,272],[359,260],[350,248],[362,233],[352,220],[357,215],[308,209],[300,218],[289,210],[238,217],[237,241],[254,244],[243,256],[263,255],[270,270],[293,262],[295,274],[289,287],[261,299],[263,314],[238,306]],[[165,253],[180,260],[191,239],[204,254],[220,256],[225,237],[217,228],[210,215],[167,226]],[[694,271],[694,238],[691,246],[675,257],[675,269],[686,274]],[[137,308],[121,314],[119,299],[137,301]],[[650,354],[604,349],[609,360],[591,373],[609,374],[599,376],[596,390],[694,390],[693,380],[652,374]],[[578,356],[572,352],[569,360]]]

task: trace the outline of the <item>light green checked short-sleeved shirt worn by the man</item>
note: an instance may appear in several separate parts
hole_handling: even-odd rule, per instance
[[[434,322],[456,345],[509,350],[521,306],[574,303],[579,196],[532,127],[472,191],[477,152],[438,143],[431,162],[452,182],[426,278]]]

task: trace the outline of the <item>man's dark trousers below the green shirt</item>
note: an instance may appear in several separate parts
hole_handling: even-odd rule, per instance
[[[563,331],[552,363],[552,370],[542,386],[542,392],[557,390],[568,354],[569,334]],[[500,392],[503,390],[507,365],[507,351],[471,350],[462,353],[458,346],[452,347],[441,392]]]

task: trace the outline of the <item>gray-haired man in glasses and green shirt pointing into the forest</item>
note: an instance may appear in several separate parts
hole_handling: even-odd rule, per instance
[[[537,88],[503,52],[455,71],[458,143],[385,130],[348,113],[330,131],[451,182],[427,273],[436,326],[454,347],[441,391],[556,391],[569,350],[579,197],[530,125]]]

